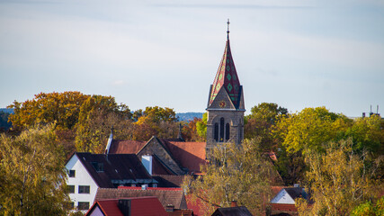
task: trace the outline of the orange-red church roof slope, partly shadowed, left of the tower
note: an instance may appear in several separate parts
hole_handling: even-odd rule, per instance
[[[164,142],[174,159],[189,172],[200,173],[200,166],[207,163],[205,142]]]

